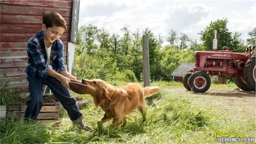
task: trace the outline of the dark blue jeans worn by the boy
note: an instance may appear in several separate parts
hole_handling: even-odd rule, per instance
[[[28,76],[29,100],[27,101],[25,118],[32,118],[37,120],[37,116],[43,106],[43,84],[46,84],[53,92],[54,96],[59,99],[67,114],[73,123],[80,123],[84,117],[77,104],[76,99],[71,96],[69,90],[61,85],[56,78],[48,75],[46,83],[43,83],[39,78]]]

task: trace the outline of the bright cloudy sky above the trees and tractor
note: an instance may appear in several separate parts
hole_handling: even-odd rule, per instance
[[[141,34],[148,27],[168,45],[170,29],[200,42],[198,33],[223,18],[228,19],[229,32],[240,32],[246,40],[256,27],[256,0],[80,0],[78,26],[92,24],[120,36],[125,25],[130,32],[139,28]]]

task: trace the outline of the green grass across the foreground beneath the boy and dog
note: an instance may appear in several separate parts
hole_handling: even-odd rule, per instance
[[[121,84],[121,83],[119,83]],[[122,84],[121,84],[122,85]],[[155,82],[152,85],[181,86],[178,83]],[[216,88],[231,88],[213,85]],[[91,99],[89,95],[82,95]],[[228,133],[234,129],[238,137],[254,137],[256,124],[254,119],[228,120],[223,112],[192,103],[186,96],[161,90],[146,99],[147,120],[142,122],[141,114],[136,110],[128,117],[128,123],[119,129],[111,129],[111,121],[104,123],[104,130],[97,128],[97,120],[104,112],[89,104],[81,109],[84,121],[95,132],[80,130],[71,122],[39,124],[23,120],[0,120],[2,143],[215,143],[215,131]],[[65,110],[61,116],[67,117]]]

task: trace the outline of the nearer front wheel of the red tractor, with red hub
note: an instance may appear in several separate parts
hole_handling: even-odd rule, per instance
[[[189,78],[189,86],[195,93],[206,92],[210,88],[210,77],[204,71],[193,73]]]

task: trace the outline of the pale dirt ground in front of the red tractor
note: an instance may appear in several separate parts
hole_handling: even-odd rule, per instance
[[[204,93],[194,93],[185,88],[166,88],[169,92],[180,95],[202,105],[202,108],[211,107],[221,111],[227,120],[244,119],[245,121],[254,118],[256,108],[255,92],[234,90],[233,88],[210,88]]]

